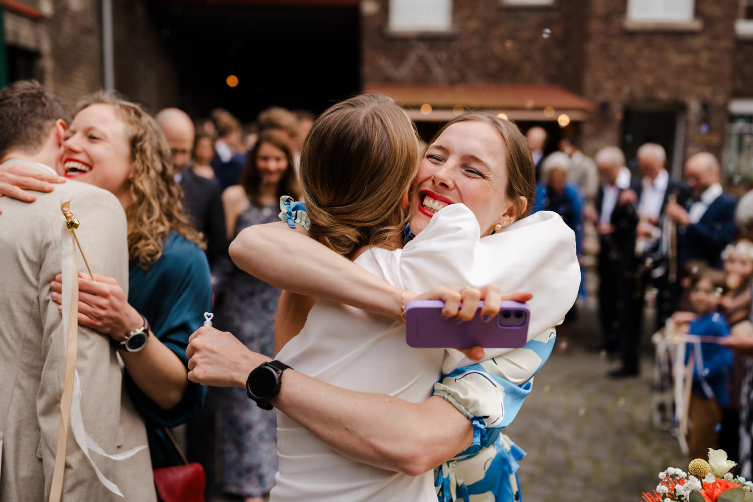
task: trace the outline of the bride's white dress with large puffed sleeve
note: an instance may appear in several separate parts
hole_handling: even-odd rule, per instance
[[[462,204],[439,211],[405,248],[372,248],[355,263],[410,291],[491,282],[504,292],[529,291],[534,294],[529,339],[562,319],[580,281],[575,237],[558,214],[541,211],[480,239],[476,218]],[[468,360],[453,349],[412,348],[404,333],[402,323],[319,300],[277,358],[338,387],[417,403],[431,395],[441,370],[449,373]],[[489,349],[486,355],[509,350]],[[279,472],[272,502],[437,500],[431,472],[407,476],[352,461],[282,412],[277,427]]]

